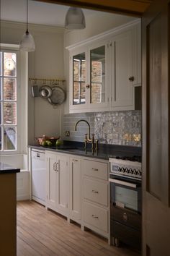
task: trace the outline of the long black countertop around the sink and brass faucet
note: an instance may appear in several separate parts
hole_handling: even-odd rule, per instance
[[[140,147],[105,144],[99,145],[97,152],[94,151],[94,153],[92,153],[90,148],[84,150],[83,142],[64,142],[64,144],[60,147],[42,147],[40,145],[29,145],[28,147],[35,148],[37,150],[50,150],[58,153],[68,153],[72,155],[80,155],[84,157],[99,158],[104,160],[109,160],[109,158],[115,158],[116,156],[141,155]]]

